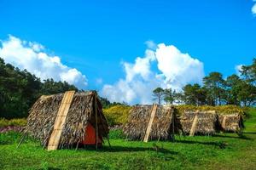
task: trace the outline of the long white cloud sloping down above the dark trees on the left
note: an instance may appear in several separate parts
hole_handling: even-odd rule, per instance
[[[55,81],[66,81],[78,88],[87,86],[86,77],[77,69],[61,63],[59,56],[44,53],[44,46],[38,42],[21,41],[17,37],[9,36],[1,41],[0,57],[5,62],[26,69],[42,80],[53,78]]]

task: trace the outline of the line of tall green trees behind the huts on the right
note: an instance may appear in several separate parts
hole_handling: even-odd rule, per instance
[[[159,104],[186,105],[240,105],[256,104],[256,59],[252,65],[242,65],[240,76],[233,74],[224,78],[220,72],[211,72],[203,78],[203,84],[187,84],[182,91],[172,88],[155,88],[154,100]]]

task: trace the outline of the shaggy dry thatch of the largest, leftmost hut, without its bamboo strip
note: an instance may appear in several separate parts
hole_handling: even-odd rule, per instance
[[[29,111],[25,132],[39,139],[44,146],[49,142],[63,95],[42,96]],[[67,113],[59,147],[78,144],[82,141],[89,122],[96,128],[96,109],[99,136],[108,135],[108,122],[102,113],[102,105],[96,92],[76,93]]]

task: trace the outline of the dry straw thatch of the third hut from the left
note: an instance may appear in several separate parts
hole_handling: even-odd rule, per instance
[[[184,111],[180,120],[184,133],[190,133],[196,114],[198,122],[195,133],[213,134],[216,132],[218,116],[215,111]]]

